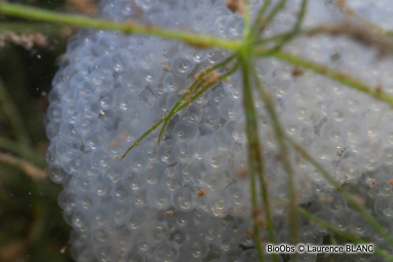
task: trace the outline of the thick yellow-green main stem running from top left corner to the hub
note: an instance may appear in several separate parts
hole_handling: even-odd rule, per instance
[[[116,30],[123,33],[136,33],[140,35],[154,35],[171,40],[184,41],[193,46],[210,48],[217,47],[226,50],[239,50],[241,41],[226,40],[210,35],[190,33],[188,31],[175,31],[151,25],[141,26],[136,22],[115,22],[81,15],[69,15],[45,9],[26,7],[7,2],[0,2],[0,13],[14,17],[33,19],[42,22],[66,24],[68,26],[88,27],[100,30]]]

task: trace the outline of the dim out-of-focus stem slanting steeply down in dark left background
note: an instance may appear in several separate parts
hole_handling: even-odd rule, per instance
[[[26,129],[24,129],[22,118],[20,117],[20,114],[18,113],[18,110],[11,99],[11,96],[8,94],[2,79],[0,79],[0,105],[8,119],[9,124],[11,125],[11,128],[13,129],[18,143],[24,146],[29,146],[29,135]]]

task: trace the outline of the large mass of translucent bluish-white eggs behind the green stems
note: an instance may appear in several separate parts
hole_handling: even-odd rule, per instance
[[[231,12],[226,2],[102,0],[98,16],[241,39],[242,15]],[[268,11],[277,2],[272,1]],[[289,0],[263,35],[291,30],[300,2]],[[251,20],[262,4],[250,1]],[[348,0],[347,6],[385,29],[393,28],[390,1]],[[303,27],[343,17],[336,1],[310,0]],[[298,37],[284,50],[371,86],[382,85],[393,94],[393,59],[349,38]],[[258,261],[250,219],[241,73],[176,113],[160,145],[162,125],[121,159],[137,138],[169,113],[195,74],[229,55],[108,31],[80,30],[70,38],[53,79],[46,132],[51,140],[49,176],[64,186],[59,205],[74,229],[72,256],[77,262]],[[359,201],[393,233],[391,107],[309,71],[294,76],[293,66],[277,59],[255,59],[253,64],[274,98],[286,133],[337,181],[356,185]],[[288,208],[274,199],[288,196],[287,174],[272,120],[264,103],[257,96],[255,100],[275,240],[288,242]],[[307,204],[314,216],[344,232],[384,246],[384,238],[312,164],[295,151],[290,160],[298,204]],[[318,245],[331,234],[305,218],[298,223],[299,242]],[[264,243],[267,232],[261,227]],[[299,259],[315,261],[316,255]],[[265,261],[270,260],[266,254]]]

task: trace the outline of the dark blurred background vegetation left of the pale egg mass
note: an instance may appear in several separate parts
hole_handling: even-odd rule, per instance
[[[14,1],[12,1],[14,2]],[[92,16],[95,0],[25,0],[25,6]],[[72,261],[70,227],[47,177],[42,124],[66,26],[0,17],[0,261]]]

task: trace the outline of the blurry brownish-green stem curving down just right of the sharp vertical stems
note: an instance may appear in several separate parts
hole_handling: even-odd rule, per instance
[[[285,133],[279,123],[277,113],[275,112],[274,105],[270,98],[270,94],[264,89],[261,82],[258,79],[257,73],[255,72],[255,68],[252,68],[253,79],[255,81],[255,86],[261,96],[266,109],[272,119],[273,122],[273,130],[275,135],[277,136],[278,144],[279,144],[279,152],[280,158],[283,162],[284,169],[286,174],[288,175],[288,199],[290,200],[289,204],[289,219],[290,219],[290,227],[291,227],[291,240],[292,243],[295,244],[299,239],[299,229],[297,225],[297,220],[294,219],[297,217],[297,209],[296,209],[296,190],[294,188],[294,170],[292,169],[292,164],[290,162],[290,152],[288,150],[288,146],[285,142]]]

